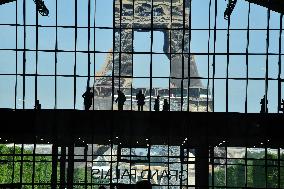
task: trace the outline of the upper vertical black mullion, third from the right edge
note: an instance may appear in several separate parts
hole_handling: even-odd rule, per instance
[[[245,113],[248,112],[248,75],[249,75],[249,41],[250,41],[250,3],[248,9],[248,25],[247,25],[247,46],[246,46],[246,99],[245,99]]]

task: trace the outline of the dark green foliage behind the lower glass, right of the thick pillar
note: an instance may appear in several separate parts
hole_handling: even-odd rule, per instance
[[[268,188],[284,188],[284,168],[278,171],[278,157],[276,154],[267,154],[267,169],[265,169],[265,155],[253,153],[250,157],[255,157],[250,160],[247,166],[247,186],[253,188],[265,188],[266,182]],[[281,154],[280,159],[284,160],[284,155]],[[226,171],[227,171],[227,185],[231,187],[245,187],[246,170],[245,165],[238,162],[237,165],[228,165],[227,170],[216,166],[214,170],[214,185],[226,185]],[[267,171],[267,175],[266,175]],[[278,177],[280,174],[280,186],[278,186]]]

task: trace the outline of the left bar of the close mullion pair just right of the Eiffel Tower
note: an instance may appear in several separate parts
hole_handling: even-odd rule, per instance
[[[208,62],[207,62],[207,97],[206,97],[206,112],[209,111],[209,82],[210,82],[210,40],[211,40],[211,4],[212,4],[212,0],[209,1],[209,10],[208,10],[208,14],[209,14],[209,21],[208,21],[208,44],[207,44],[207,52],[208,52]]]

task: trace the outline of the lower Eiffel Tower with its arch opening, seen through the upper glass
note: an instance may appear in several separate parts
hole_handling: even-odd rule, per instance
[[[112,89],[116,92],[118,88],[131,88],[134,31],[153,28],[159,28],[164,34],[163,51],[171,63],[171,87],[202,87],[200,79],[188,80],[188,75],[199,77],[194,55],[189,54],[188,0],[135,0],[134,4],[133,0],[115,0],[114,16],[114,49],[110,49],[102,70],[96,74],[100,77],[94,83],[95,96],[104,93],[109,96]],[[106,92],[106,88],[110,91]],[[102,105],[95,102],[95,106],[107,106],[106,109],[109,109],[112,101],[108,101],[104,99]]]

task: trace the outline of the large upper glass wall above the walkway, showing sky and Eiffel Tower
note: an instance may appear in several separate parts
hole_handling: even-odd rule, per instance
[[[164,100],[170,111],[279,111],[280,13],[247,1],[227,19],[217,0],[40,2],[48,16],[32,0],[0,5],[0,108],[80,110],[89,86],[92,110],[117,110],[120,90],[136,111],[141,90],[144,111]]]

